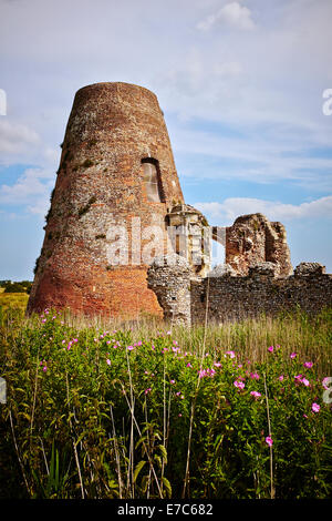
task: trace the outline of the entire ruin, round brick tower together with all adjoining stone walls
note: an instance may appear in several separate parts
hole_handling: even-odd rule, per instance
[[[211,242],[225,264],[211,266]],[[190,325],[332,304],[318,263],[291,266],[286,229],[262,214],[209,226],[185,204],[157,98],[127,83],[77,91],[28,313]]]

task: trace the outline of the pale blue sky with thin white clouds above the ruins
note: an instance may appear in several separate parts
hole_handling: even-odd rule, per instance
[[[262,212],[331,273],[331,0],[0,0],[0,279],[32,279],[74,94],[101,81],[157,94],[211,224]]]

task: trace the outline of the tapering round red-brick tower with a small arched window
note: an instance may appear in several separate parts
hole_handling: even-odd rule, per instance
[[[162,315],[147,287],[147,253],[157,236],[153,226],[165,229],[167,211],[183,202],[155,94],[127,83],[79,90],[28,313],[69,307],[124,318]]]

